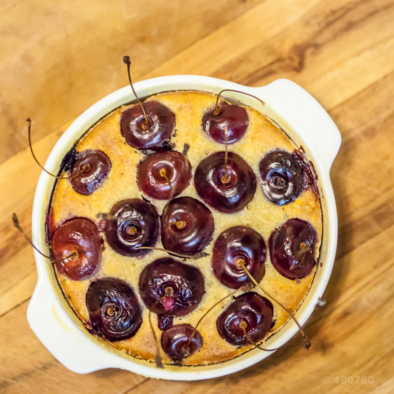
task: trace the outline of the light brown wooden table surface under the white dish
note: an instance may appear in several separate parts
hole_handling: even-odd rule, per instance
[[[0,54],[1,393],[394,393],[394,1],[4,0]],[[201,382],[77,375],[29,328],[33,250],[11,222],[16,212],[31,233],[40,169],[25,119],[43,163],[75,117],[127,85],[126,54],[134,80],[289,78],[338,125],[338,251],[327,304],[305,327],[308,352],[296,335],[246,370]]]

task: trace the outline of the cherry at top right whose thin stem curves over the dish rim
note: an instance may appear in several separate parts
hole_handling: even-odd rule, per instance
[[[226,128],[228,143],[238,141],[246,132],[249,125],[249,115],[245,108],[230,105],[227,102],[219,104],[219,114],[215,115],[216,107],[205,112],[202,127],[216,141],[226,143]]]

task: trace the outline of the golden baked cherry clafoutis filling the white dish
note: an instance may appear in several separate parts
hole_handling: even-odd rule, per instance
[[[232,359],[283,327],[278,302],[294,313],[316,271],[312,164],[257,110],[216,101],[167,92],[145,113],[115,109],[54,187],[46,231],[62,292],[92,335],[133,357]]]

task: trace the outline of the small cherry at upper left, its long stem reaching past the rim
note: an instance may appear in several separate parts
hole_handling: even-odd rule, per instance
[[[102,151],[80,152],[70,173],[72,188],[84,196],[91,195],[107,179],[111,166],[109,157]]]

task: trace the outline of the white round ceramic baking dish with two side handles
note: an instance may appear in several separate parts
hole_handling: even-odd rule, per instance
[[[226,92],[224,97],[237,99],[254,107],[280,126],[298,147],[303,147],[307,158],[313,162],[316,169],[323,213],[323,239],[317,271],[308,295],[296,312],[299,323],[304,324],[326,289],[335,259],[338,236],[336,205],[329,171],[338,153],[341,135],[327,112],[305,90],[287,79],[252,88],[205,76],[173,75],[137,82],[134,88],[139,97],[175,90],[198,90],[218,94],[223,89],[233,89],[249,93],[262,99],[265,105],[249,96],[234,92]],[[99,100],[86,110],[59,139],[49,155],[45,168],[57,173],[62,159],[85,131],[113,109],[134,99],[128,86]],[[47,249],[45,213],[54,181],[53,177],[42,172],[34,196],[33,242],[43,251]],[[153,363],[112,350],[90,335],[62,295],[51,264],[36,251],[34,256],[38,281],[27,312],[29,324],[54,357],[74,372],[88,373],[103,368],[122,368],[154,378],[199,380],[239,371],[273,353],[252,349],[235,359],[218,364],[166,365],[164,369],[156,368]],[[283,345],[296,332],[296,324],[291,320],[267,340],[267,347],[276,348]]]

